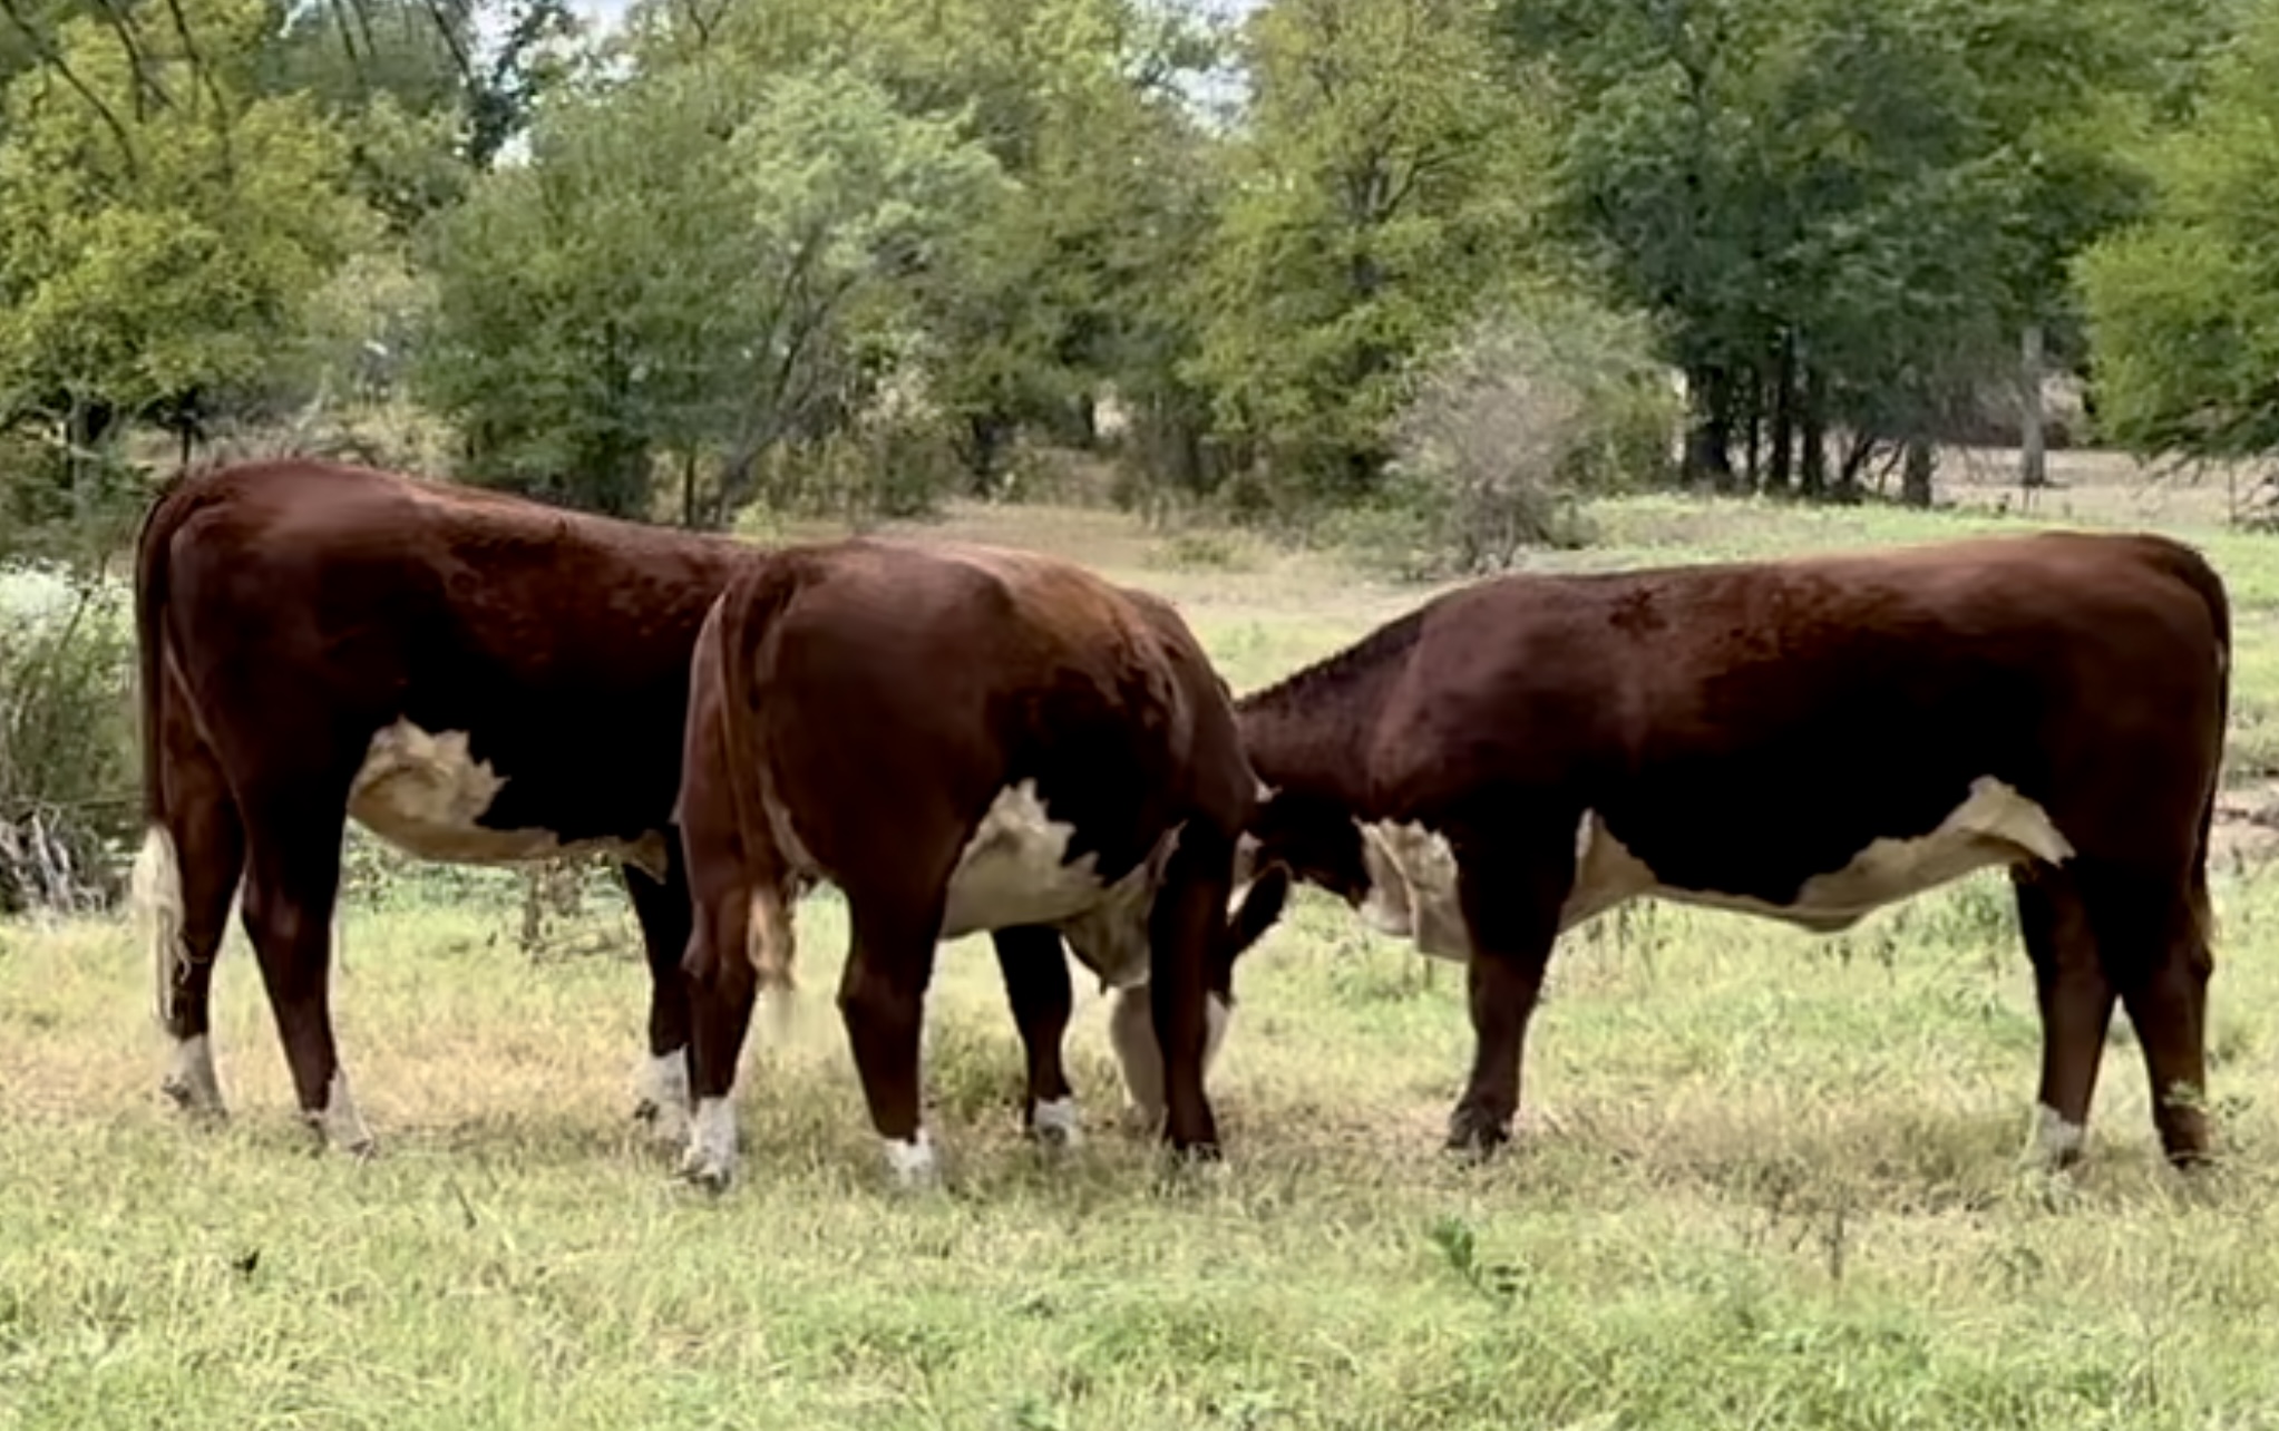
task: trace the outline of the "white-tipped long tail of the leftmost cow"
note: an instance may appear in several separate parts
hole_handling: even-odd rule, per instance
[[[173,1025],[173,989],[189,946],[182,941],[182,852],[173,839],[164,782],[166,700],[166,556],[187,515],[187,472],[157,490],[134,535],[134,654],[141,706],[141,804],[144,843],[128,875],[128,902],[150,950],[150,978],[160,1025]]]

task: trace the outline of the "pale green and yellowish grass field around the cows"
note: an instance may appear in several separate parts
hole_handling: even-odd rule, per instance
[[[2026,520],[1641,499],[1602,522],[1559,563]],[[2233,777],[2256,788],[2279,772],[2279,542],[2163,522],[2236,595]],[[1420,599],[1098,513],[937,531],[1174,595],[1237,688]],[[818,896],[809,993],[752,1055],[745,1180],[718,1201],[627,1119],[645,975],[618,902],[577,930],[604,952],[533,962],[510,880],[444,886],[346,918],[369,1164],[308,1153],[235,934],[235,1119],[201,1132],[160,1107],[123,923],[0,925],[0,1426],[2279,1426],[2279,877],[2247,848],[2217,877],[2231,1155],[2192,1183],[2156,1155],[2124,1030],[2081,1174],[2017,1167],[2037,1028],[1996,877],[1839,939],[1673,907],[1570,934],[1525,1144],[1470,1169],[1438,1153],[1461,973],[1324,900],[1242,968],[1215,1178],[1165,1180],[1114,1128],[1085,987],[1092,1139],[1026,1148],[996,964],[962,941],[930,1003],[932,1196],[882,1187]]]

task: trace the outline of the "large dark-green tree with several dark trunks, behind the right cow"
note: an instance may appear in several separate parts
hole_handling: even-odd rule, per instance
[[[2065,262],[2142,185],[2119,137],[2204,7],[2149,0],[1511,0],[1566,84],[1563,216],[1661,314],[1689,472],[1825,490],[2062,324]],[[1764,467],[1757,469],[1759,447]],[[1928,499],[1928,488],[1917,485]]]

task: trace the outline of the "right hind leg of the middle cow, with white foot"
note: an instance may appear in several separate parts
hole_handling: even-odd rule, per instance
[[[921,1112],[918,1037],[925,987],[934,973],[941,900],[848,891],[855,941],[839,980],[855,1071],[861,1076],[871,1126],[887,1144],[887,1169],[902,1187],[939,1183],[934,1142]]]

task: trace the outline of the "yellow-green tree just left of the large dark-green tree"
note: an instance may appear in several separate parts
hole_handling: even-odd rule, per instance
[[[1187,374],[1281,499],[1367,492],[1408,362],[1531,267],[1547,160],[1475,0],[1274,0]]]

